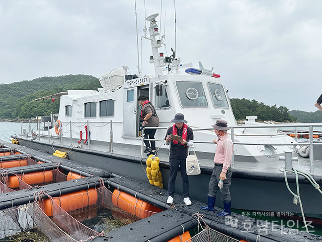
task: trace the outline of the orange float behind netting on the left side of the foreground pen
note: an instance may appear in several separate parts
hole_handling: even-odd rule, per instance
[[[91,188],[89,190],[75,191],[61,195],[60,197],[52,197],[52,199],[65,212],[70,212],[96,204],[97,190],[95,188]],[[51,217],[54,214],[54,204],[52,199],[45,199],[44,205],[42,206],[43,211],[48,217]]]

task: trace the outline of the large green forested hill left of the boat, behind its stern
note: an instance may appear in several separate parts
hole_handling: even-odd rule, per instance
[[[92,89],[101,87],[98,78],[91,75],[64,75],[39,77],[31,81],[0,84],[0,119],[29,119],[36,117],[36,98],[67,91],[68,89]],[[51,112],[51,100],[45,102],[45,114]],[[58,113],[59,100],[53,103],[54,113]],[[43,115],[43,107],[39,107]]]

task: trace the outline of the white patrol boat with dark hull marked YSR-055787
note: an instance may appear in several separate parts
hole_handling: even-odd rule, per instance
[[[21,145],[47,153],[52,153],[53,148],[57,147],[68,152],[71,160],[148,182],[144,168],[147,157],[143,154],[139,117],[141,107],[137,101],[140,95],[144,95],[154,104],[160,119],[156,146],[159,148],[165,188],[169,165],[168,147],[163,145],[163,139],[166,128],[173,124],[170,120],[174,115],[184,114],[188,125],[194,130],[193,149],[201,163],[202,174],[190,177],[190,197],[200,201],[206,201],[214,166],[216,146],[212,140],[216,136],[211,125],[217,119],[224,119],[232,127],[228,133],[235,143],[232,208],[300,212],[300,207],[292,202],[293,195],[288,192],[284,174],[280,171],[284,163],[278,159],[278,155],[284,152],[293,152],[294,155],[298,145],[296,140],[279,132],[278,125],[270,123],[263,126],[256,122],[256,117],[248,117],[246,125],[238,126],[228,91],[219,74],[213,69],[204,68],[201,62],[199,68],[192,67],[189,62],[181,63],[175,50],[169,57],[164,57],[159,51],[164,43],[159,37],[157,17],[158,14],[153,14],[146,18],[150,22],[148,39],[153,54],[149,62],[154,64],[155,76],[142,75],[140,70],[138,74],[131,75],[124,65],[104,73],[100,77],[102,88],[97,91],[68,90],[37,99],[60,97],[59,114],[56,117],[42,117],[43,128],[39,125],[38,130],[32,132],[32,137],[24,132],[14,138]],[[313,150],[313,143],[310,145]],[[321,160],[300,159],[294,167],[310,173],[314,182],[321,184]],[[321,215],[322,195],[308,179],[301,176],[296,179],[293,174],[287,177],[293,189],[296,184],[300,188],[304,211],[313,216]],[[178,174],[177,193],[182,192],[180,179]],[[217,199],[217,205],[221,204]]]

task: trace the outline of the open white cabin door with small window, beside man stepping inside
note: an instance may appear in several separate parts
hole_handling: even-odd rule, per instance
[[[142,106],[138,101],[141,95],[149,98],[149,84],[124,89],[123,136],[134,138],[140,136],[140,115]]]

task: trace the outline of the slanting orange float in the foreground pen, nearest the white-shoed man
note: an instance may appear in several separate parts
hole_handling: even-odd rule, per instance
[[[147,218],[150,215],[150,211],[152,212],[162,212],[161,208],[153,206],[152,204],[142,201],[140,199],[135,198],[123,191],[119,191],[114,189],[112,195],[112,204],[115,207],[118,207],[130,214],[133,214],[141,219]]]

